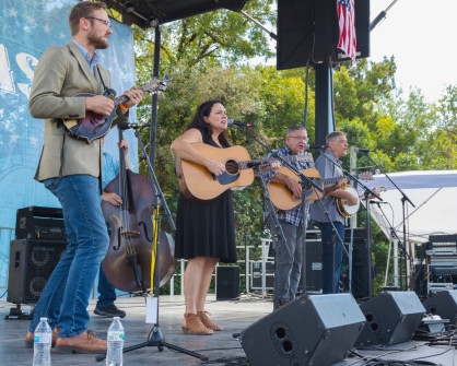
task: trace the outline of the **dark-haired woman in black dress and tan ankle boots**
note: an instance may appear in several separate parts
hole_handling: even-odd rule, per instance
[[[225,172],[225,166],[200,154],[192,144],[228,147],[226,129],[227,115],[223,103],[207,101],[197,108],[186,132],[173,141],[172,151],[220,176]],[[180,194],[176,222],[175,257],[188,260],[184,273],[186,312],[183,332],[212,334],[214,330],[222,330],[204,311],[212,272],[219,261],[236,262],[232,191],[200,202],[189,201]]]

